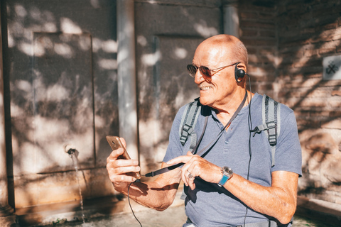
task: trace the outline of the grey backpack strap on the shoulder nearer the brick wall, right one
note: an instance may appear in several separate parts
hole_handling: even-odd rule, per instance
[[[271,165],[275,165],[275,153],[277,138],[281,131],[281,104],[279,104],[274,99],[271,99],[266,94],[263,95],[263,100],[261,104],[261,116],[262,124],[256,126],[251,132],[261,133],[261,131],[266,131],[266,136],[268,137],[269,144],[271,146]],[[253,135],[253,136],[254,136]]]

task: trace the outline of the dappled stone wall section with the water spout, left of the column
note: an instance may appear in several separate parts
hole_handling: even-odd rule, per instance
[[[115,1],[1,1],[11,206],[80,199],[76,177],[85,198],[114,193],[115,14]]]

